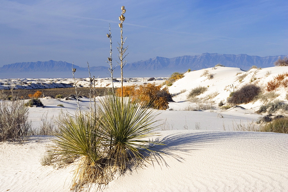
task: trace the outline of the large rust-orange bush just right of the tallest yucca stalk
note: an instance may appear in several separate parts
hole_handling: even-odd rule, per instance
[[[173,101],[168,88],[161,89],[161,85],[155,85],[155,83],[140,85],[139,89],[134,92],[132,100],[134,101],[138,98],[147,107],[160,110],[168,109],[168,102]]]

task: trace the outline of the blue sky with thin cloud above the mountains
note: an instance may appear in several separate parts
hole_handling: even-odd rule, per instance
[[[0,66],[51,59],[106,66],[109,23],[117,59],[122,5],[128,63],[206,52],[288,55],[287,0],[1,0]]]

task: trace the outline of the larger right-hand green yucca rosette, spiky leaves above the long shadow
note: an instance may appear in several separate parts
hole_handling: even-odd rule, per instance
[[[154,151],[151,145],[163,144],[147,139],[157,135],[150,131],[160,125],[153,125],[158,121],[154,120],[157,115],[139,103],[143,103],[140,98],[130,101],[130,98],[122,100],[109,95],[101,101],[103,108],[98,110],[100,126],[110,137],[111,158],[121,172],[126,169],[127,163],[131,163],[130,160],[138,163],[145,153]]]

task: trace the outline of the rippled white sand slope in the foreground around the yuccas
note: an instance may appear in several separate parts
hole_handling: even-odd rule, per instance
[[[170,130],[151,154],[104,191],[287,191],[288,135],[261,132]],[[51,137],[0,145],[0,190],[68,191],[72,166],[41,166]],[[154,138],[155,139],[155,138]],[[93,190],[92,190],[93,191]]]

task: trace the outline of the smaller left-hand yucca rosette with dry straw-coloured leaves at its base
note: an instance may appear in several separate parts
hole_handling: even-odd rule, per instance
[[[62,117],[60,133],[56,135],[55,145],[50,145],[52,158],[79,158],[74,172],[72,189],[77,191],[89,183],[107,184],[113,177],[109,171],[109,146],[105,141],[105,130],[98,120],[89,115]]]

